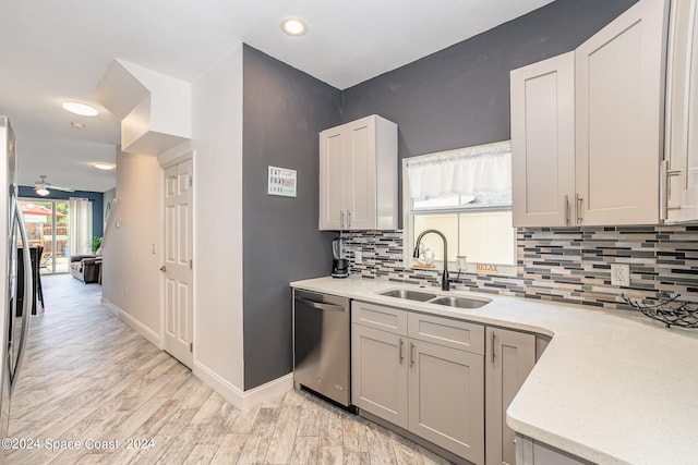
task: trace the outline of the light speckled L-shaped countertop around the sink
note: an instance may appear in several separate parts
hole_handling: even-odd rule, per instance
[[[455,309],[377,295],[418,286],[361,278],[291,286],[552,336],[507,409],[509,427],[599,464],[698,461],[698,330],[629,310],[449,291],[492,299]]]

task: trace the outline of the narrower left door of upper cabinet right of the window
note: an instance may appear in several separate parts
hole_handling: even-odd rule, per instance
[[[575,52],[512,71],[515,227],[574,224]]]

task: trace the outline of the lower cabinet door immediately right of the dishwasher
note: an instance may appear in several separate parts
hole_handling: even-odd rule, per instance
[[[351,403],[408,427],[406,338],[351,325]]]

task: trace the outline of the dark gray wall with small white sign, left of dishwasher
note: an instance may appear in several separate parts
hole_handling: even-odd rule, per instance
[[[291,371],[289,282],[328,276],[317,230],[318,133],[340,123],[341,93],[249,46],[243,49],[244,389]],[[267,195],[267,167],[298,171],[298,196]]]

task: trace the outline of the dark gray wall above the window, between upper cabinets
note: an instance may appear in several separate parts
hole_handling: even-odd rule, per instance
[[[509,71],[574,50],[636,2],[557,0],[346,89],[342,122],[394,121],[400,159],[508,139]]]

